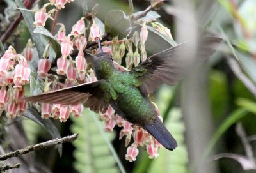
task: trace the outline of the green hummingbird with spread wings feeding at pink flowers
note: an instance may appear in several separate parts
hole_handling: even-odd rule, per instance
[[[111,56],[102,51],[100,39],[97,38],[99,53],[93,57],[97,81],[25,99],[65,105],[84,103],[85,107],[94,112],[108,110],[110,104],[116,114],[147,130],[166,149],[173,150],[177,147],[177,142],[159,119],[148,95],[154,93],[161,84],[177,84],[189,73],[189,69],[208,59],[221,40],[217,37],[201,38],[195,53],[195,63],[189,58],[191,44],[181,43],[148,57],[131,71],[120,71],[115,68]]]

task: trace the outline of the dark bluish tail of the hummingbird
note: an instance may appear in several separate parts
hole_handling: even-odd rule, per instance
[[[176,140],[158,117],[152,123],[145,125],[144,128],[166,149],[173,150],[177,147]]]

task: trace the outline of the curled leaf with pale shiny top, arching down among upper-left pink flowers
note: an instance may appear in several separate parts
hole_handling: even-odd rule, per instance
[[[47,29],[45,29],[42,26],[38,26],[38,27],[35,28],[34,33],[42,34],[44,36],[47,36],[47,38],[51,42],[51,45],[52,45],[52,48],[54,49],[54,52],[56,53],[56,56],[61,57],[60,43],[58,42],[58,40],[56,40],[56,38],[54,36],[52,36],[52,34]]]

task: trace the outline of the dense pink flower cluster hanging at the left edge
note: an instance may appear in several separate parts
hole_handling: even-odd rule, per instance
[[[9,118],[19,117],[28,107],[28,103],[21,98],[31,73],[28,67],[28,61],[33,56],[30,49],[26,47],[24,57],[10,46],[0,59],[0,110],[4,110]]]

